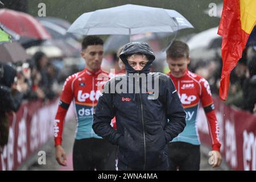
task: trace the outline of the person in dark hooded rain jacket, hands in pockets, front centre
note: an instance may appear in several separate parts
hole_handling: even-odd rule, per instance
[[[150,73],[155,55],[147,43],[128,43],[119,57],[127,75],[104,85],[93,130],[117,144],[118,170],[167,170],[167,143],[183,131],[186,117],[175,86],[170,77]],[[117,130],[110,126],[114,116]]]

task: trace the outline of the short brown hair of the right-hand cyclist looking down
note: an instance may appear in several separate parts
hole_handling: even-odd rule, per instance
[[[172,59],[177,59],[181,57],[189,57],[189,47],[186,43],[180,40],[174,40],[171,46],[166,51],[167,57]]]

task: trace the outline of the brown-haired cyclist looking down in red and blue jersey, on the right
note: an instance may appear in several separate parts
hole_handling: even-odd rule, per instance
[[[171,77],[181,103],[187,114],[186,126],[182,133],[169,144],[170,170],[200,169],[200,139],[196,127],[196,117],[200,104],[207,116],[210,138],[212,140],[212,155],[215,159],[213,167],[220,166],[221,144],[218,140],[218,123],[214,112],[210,86],[203,77],[188,71],[189,48],[181,41],[174,41],[166,51],[167,63]]]

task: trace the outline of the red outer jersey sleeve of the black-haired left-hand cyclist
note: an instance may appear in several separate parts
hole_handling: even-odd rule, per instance
[[[58,106],[56,117],[55,117],[55,122],[54,122],[55,146],[61,145],[64,119],[67,114],[68,107],[72,100],[73,100],[72,77],[69,76],[64,83],[63,90],[60,96],[59,106]]]

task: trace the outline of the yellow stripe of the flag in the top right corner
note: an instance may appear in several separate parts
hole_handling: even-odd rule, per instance
[[[250,34],[256,23],[256,0],[240,0],[242,30]]]

